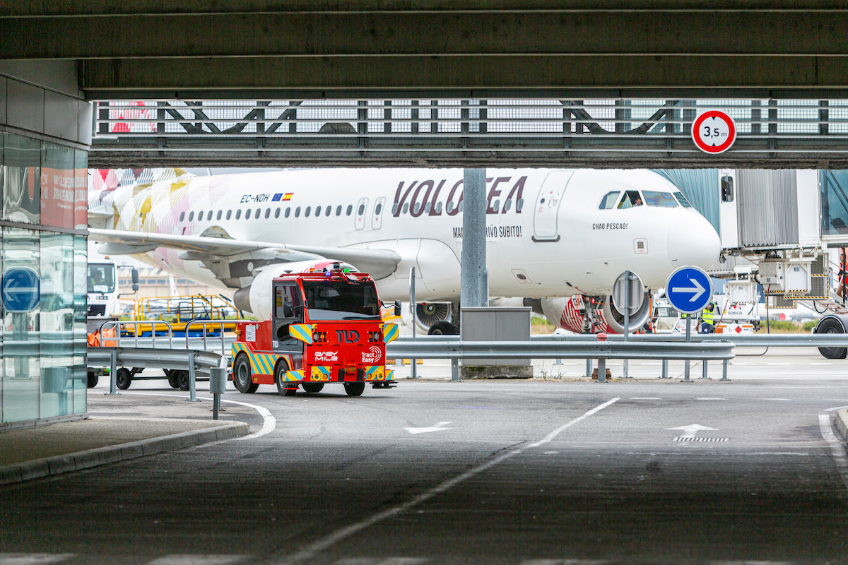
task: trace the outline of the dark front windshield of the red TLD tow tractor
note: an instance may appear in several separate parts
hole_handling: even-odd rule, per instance
[[[372,281],[304,281],[311,320],[380,319],[380,303]]]

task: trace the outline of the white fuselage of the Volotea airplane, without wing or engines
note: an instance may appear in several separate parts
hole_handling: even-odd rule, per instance
[[[119,187],[110,197],[92,195],[92,206],[114,207],[114,230],[390,249],[402,259],[377,280],[383,300],[407,299],[416,267],[418,300],[456,301],[462,180],[462,169],[229,174]],[[659,288],[678,266],[707,268],[715,261],[717,234],[694,208],[673,198],[673,205],[602,208],[605,195],[616,191],[678,192],[644,170],[487,169],[489,294],[605,295],[625,269]],[[204,264],[181,254],[159,247],[146,260],[221,284]]]

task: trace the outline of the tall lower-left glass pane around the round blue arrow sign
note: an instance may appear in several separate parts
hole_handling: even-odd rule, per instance
[[[3,272],[26,267],[39,272],[39,234],[3,228]],[[41,362],[39,309],[3,311],[3,421],[39,418]]]

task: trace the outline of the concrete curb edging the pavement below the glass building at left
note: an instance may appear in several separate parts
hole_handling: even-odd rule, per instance
[[[25,480],[41,479],[55,474],[70,473],[81,469],[97,467],[107,463],[117,463],[136,457],[153,455],[163,451],[196,446],[210,441],[230,440],[250,433],[245,422],[224,424],[215,428],[192,430],[179,434],[164,435],[149,440],[131,441],[117,446],[98,447],[86,451],[77,451],[67,455],[44,457],[25,463],[14,463],[0,467],[0,485],[20,483]]]

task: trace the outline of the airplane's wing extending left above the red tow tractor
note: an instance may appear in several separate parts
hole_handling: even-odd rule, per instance
[[[257,255],[263,259],[260,264],[290,263],[338,259],[354,265],[375,279],[394,272],[400,262],[400,255],[390,249],[365,249],[352,247],[321,247],[304,245],[284,245],[267,241],[243,241],[233,239],[223,230],[204,232],[204,235],[170,235],[140,233],[121,230],[88,230],[92,241],[103,242],[98,252],[103,255],[127,255],[153,251],[157,247],[169,247],[182,250],[180,258],[187,261],[204,263],[226,262],[227,258],[237,259],[245,254]]]

